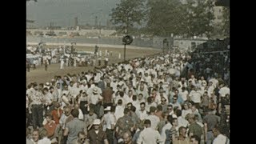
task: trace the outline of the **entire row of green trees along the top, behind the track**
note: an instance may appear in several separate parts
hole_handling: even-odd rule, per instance
[[[112,9],[111,22],[119,34],[210,38],[229,35],[230,10],[225,7],[221,25],[214,25],[211,0],[121,0]]]

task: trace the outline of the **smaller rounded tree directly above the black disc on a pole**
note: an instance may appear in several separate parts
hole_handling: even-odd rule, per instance
[[[134,30],[134,26],[141,25],[145,16],[145,0],[121,0],[110,14],[111,22],[119,33],[126,29]]]

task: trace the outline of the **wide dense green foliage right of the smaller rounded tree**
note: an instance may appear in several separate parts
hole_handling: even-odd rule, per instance
[[[158,36],[185,37],[210,34],[214,19],[213,2],[202,0],[148,0],[147,28]]]

